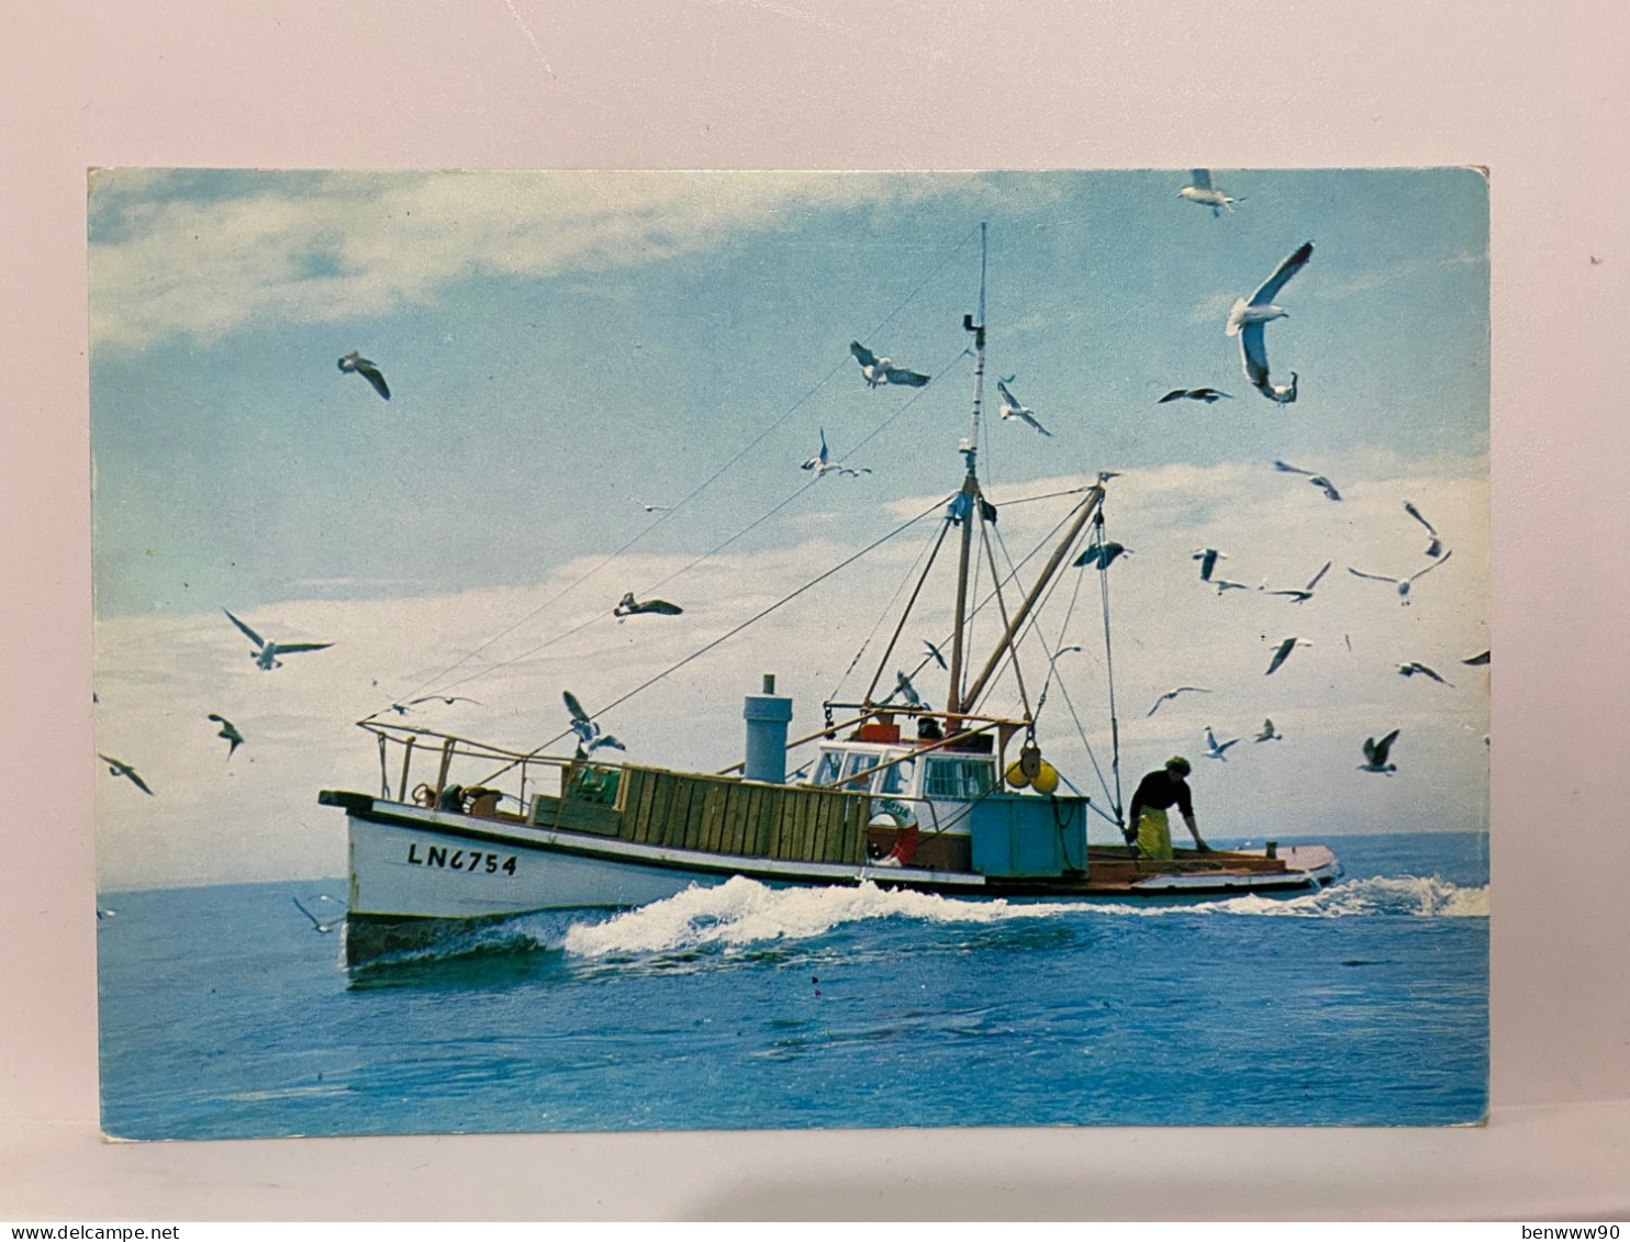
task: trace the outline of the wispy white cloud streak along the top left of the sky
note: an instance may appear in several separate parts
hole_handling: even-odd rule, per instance
[[[196,176],[196,174],[192,174]],[[478,274],[554,275],[647,262],[774,228],[797,209],[911,202],[976,174],[331,173],[236,197],[173,196],[173,179],[93,181],[91,339],[210,342],[272,316],[336,321],[422,303]]]

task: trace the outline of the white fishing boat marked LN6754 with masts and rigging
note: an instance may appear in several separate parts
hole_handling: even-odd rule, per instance
[[[975,357],[973,421],[958,447],[962,486],[936,505],[939,535],[866,693],[823,702],[820,729],[789,738],[792,701],[764,675],[760,693],[745,696],[743,760],[720,773],[606,758],[616,743],[569,694],[577,738],[570,755],[549,753],[553,743],[515,750],[380,716],[359,720],[380,751],[380,792],[319,794],[349,825],[352,967],[522,913],[632,908],[732,877],[771,887],[870,883],[955,900],[1115,901],[1294,896],[1340,877],[1338,859],[1319,844],[1268,841],[1258,849],[1148,857],[1121,843],[1113,711],[1108,805],[1061,787],[1069,782],[1043,758],[1037,733],[1056,655],[1032,702],[1020,645],[1033,637],[1038,608],[1066,564],[1095,564],[1102,574],[1113,559],[1104,535],[1107,476],[1076,489],[1027,587],[1019,582],[1025,562],[998,569],[986,538],[998,509],[978,476],[983,303],[981,261],[980,311],[962,324]],[[906,619],[954,536],[949,650],[931,649],[913,673],[898,670],[888,685]],[[971,579],[981,553],[989,588],[976,601]],[[975,668],[968,621],[991,606],[1001,636]],[[1108,632],[1105,618],[1105,644]],[[932,709],[914,678],[939,663],[945,706]],[[985,711],[1002,676],[1017,689],[1017,712]],[[789,779],[787,756],[805,750],[813,756]],[[1089,815],[1113,825],[1117,839],[1089,843]]]

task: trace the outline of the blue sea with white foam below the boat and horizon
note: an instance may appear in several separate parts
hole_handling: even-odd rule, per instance
[[[1488,838],[1328,844],[1345,879],[1293,900],[981,903],[738,879],[513,918],[359,975],[339,929],[290,900],[337,918],[339,879],[103,893],[103,1128],[1477,1121]]]

